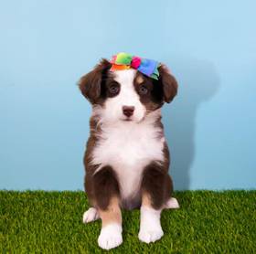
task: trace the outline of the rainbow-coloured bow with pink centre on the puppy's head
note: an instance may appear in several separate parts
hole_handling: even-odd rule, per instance
[[[160,66],[160,63],[152,59],[140,58],[122,52],[112,56],[111,63],[112,70],[133,68],[152,79],[158,79],[159,77],[158,67]]]

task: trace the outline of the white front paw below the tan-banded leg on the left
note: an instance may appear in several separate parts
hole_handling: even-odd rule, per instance
[[[101,228],[98,244],[102,249],[112,249],[123,242],[122,227],[119,224],[110,224]]]

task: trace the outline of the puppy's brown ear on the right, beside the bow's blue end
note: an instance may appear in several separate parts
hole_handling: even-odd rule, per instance
[[[158,68],[159,70],[159,81],[163,87],[164,100],[167,103],[173,101],[177,93],[177,82],[176,79],[169,70],[162,65]]]

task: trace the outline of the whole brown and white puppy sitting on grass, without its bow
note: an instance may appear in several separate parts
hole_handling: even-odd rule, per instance
[[[91,101],[91,135],[84,156],[85,190],[91,208],[84,223],[101,218],[98,244],[112,249],[123,242],[121,208],[140,207],[140,240],[163,236],[164,208],[176,208],[168,175],[169,152],[161,107],[176,96],[176,79],[165,66],[159,79],[135,69],[110,70],[102,59],[80,79],[81,93]]]

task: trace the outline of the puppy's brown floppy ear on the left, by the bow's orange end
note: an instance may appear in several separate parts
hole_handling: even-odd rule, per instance
[[[107,59],[101,59],[101,62],[91,72],[80,78],[80,91],[92,104],[101,97],[101,82],[106,78],[107,71],[111,69],[111,66]]]

